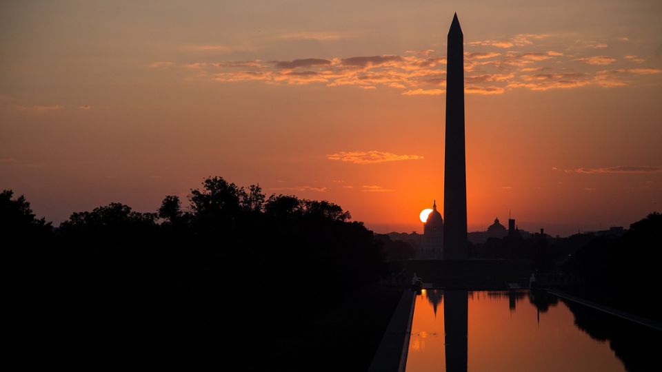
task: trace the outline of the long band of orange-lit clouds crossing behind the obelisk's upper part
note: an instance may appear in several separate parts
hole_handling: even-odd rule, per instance
[[[341,34],[303,32],[278,37],[337,39]],[[574,36],[517,34],[506,40],[468,43],[465,92],[504,94],[518,88],[541,91],[588,85],[610,88],[634,85],[643,80],[637,78],[638,75],[661,72],[659,68],[641,65],[644,60],[635,54],[625,54],[625,57],[585,55],[583,52],[601,46],[601,42],[572,43],[570,37]],[[197,45],[194,49],[228,50],[225,47],[227,45]],[[425,49],[408,50],[403,54],[311,56],[285,61],[189,62],[177,67],[194,73],[197,78],[220,83],[323,84],[328,87],[354,86],[363,90],[388,88],[401,90],[403,96],[435,96],[445,94],[445,63],[445,56]],[[614,65],[615,68],[605,71],[593,68],[605,65]],[[154,62],[151,66],[159,70],[174,67],[170,62]]]

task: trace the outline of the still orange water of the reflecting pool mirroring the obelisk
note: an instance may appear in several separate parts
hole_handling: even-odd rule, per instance
[[[642,333],[659,340],[546,292],[429,289],[414,305],[406,371],[639,370]]]

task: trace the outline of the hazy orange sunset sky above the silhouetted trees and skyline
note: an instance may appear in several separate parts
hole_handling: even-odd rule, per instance
[[[659,0],[3,1],[0,188],[57,225],[223,176],[421,232],[454,12],[470,231],[662,210]]]

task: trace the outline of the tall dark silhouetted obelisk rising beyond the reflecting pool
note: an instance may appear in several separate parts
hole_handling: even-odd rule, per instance
[[[468,257],[463,43],[464,36],[456,13],[448,30],[446,54],[446,138],[443,169],[445,260],[465,260]]]

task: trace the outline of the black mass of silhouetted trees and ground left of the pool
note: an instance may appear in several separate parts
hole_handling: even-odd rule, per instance
[[[58,229],[0,197],[3,334],[26,361],[365,371],[400,291],[381,244],[325,201],[208,178],[141,213],[111,203]]]

